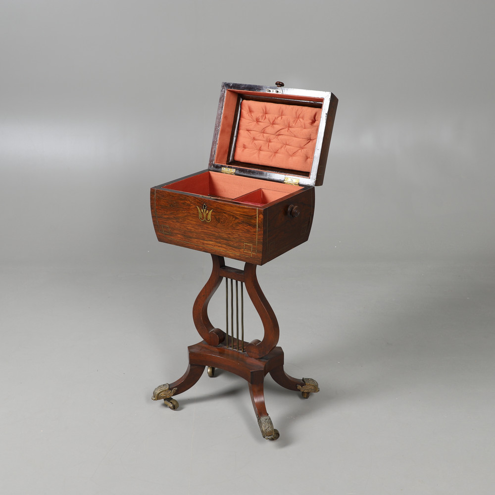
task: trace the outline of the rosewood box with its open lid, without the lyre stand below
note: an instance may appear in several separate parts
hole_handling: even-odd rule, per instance
[[[223,83],[208,168],[151,188],[158,241],[262,265],[307,241],[337,98]]]

